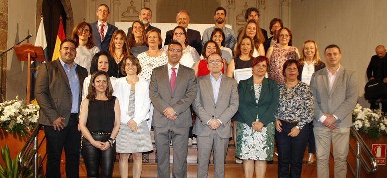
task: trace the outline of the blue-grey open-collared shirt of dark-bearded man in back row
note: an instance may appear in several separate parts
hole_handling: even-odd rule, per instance
[[[204,30],[203,38],[202,38],[202,45],[203,46],[204,46],[204,44],[206,44],[207,41],[209,41],[211,39],[211,33],[215,28],[218,28],[218,27],[216,25],[214,25],[213,27],[207,28],[206,30]],[[225,40],[225,47],[230,48],[230,49],[234,49],[234,46],[237,42],[237,38],[235,37],[234,30],[232,30],[226,26],[223,26],[221,29],[225,35],[225,38],[226,38],[226,39],[223,39],[223,40]]]

